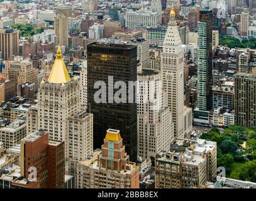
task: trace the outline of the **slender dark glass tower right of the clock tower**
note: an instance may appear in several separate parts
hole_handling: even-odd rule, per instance
[[[212,109],[211,85],[213,75],[213,13],[200,11],[198,22],[198,108],[194,119],[203,119],[208,124],[208,111]]]

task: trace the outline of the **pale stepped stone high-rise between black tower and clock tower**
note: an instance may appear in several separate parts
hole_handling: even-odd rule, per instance
[[[138,156],[153,158],[167,151],[174,141],[172,113],[167,107],[167,94],[162,91],[160,73],[143,69],[138,73],[137,102]]]

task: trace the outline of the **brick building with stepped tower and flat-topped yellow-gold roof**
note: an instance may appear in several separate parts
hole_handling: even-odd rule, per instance
[[[80,188],[139,188],[140,168],[125,153],[120,131],[108,129],[102,151],[96,150],[78,165]]]

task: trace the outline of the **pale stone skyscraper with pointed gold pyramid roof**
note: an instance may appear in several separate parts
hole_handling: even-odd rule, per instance
[[[65,156],[72,160],[84,160],[93,150],[92,114],[81,110],[80,97],[79,80],[70,78],[59,46],[50,76],[38,91],[37,124],[50,139],[65,141]],[[28,113],[30,125],[35,113]]]

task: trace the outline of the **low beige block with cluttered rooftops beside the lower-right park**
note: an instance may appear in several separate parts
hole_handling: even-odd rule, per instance
[[[216,177],[216,143],[179,139],[155,160],[155,188],[199,188]]]

